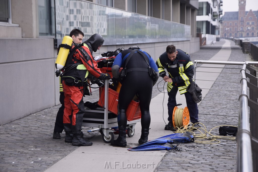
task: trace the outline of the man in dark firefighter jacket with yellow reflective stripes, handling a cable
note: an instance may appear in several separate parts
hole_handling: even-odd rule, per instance
[[[168,124],[165,126],[165,130],[173,130],[172,115],[173,109],[177,104],[176,93],[178,90],[180,94],[184,94],[186,97],[191,122],[193,124],[199,122],[197,103],[193,101],[192,94],[186,91],[194,75],[194,65],[190,56],[186,52],[176,49],[174,45],[168,45],[166,52],[160,55],[156,64],[159,76],[168,82]],[[168,76],[165,69],[168,72]],[[195,127],[198,127],[198,124]]]

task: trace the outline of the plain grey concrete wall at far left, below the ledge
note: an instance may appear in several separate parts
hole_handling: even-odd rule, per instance
[[[0,125],[55,105],[53,39],[0,39]]]

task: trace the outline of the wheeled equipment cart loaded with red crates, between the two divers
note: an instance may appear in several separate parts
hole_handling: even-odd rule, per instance
[[[111,141],[114,140],[114,130],[112,130],[112,127],[117,127],[117,115],[112,113],[111,109],[109,108],[109,104],[112,103],[114,104],[114,102],[111,102],[111,100],[109,99],[109,95],[111,96],[111,94],[108,94],[110,92],[109,88],[108,88],[108,80],[105,80],[105,87],[104,89],[104,96],[102,96],[102,98],[104,99],[104,107],[101,108],[96,108],[94,110],[91,109],[87,109],[85,107],[85,114],[83,116],[83,123],[82,126],[84,127],[92,127],[92,128],[96,128],[96,129],[92,129],[89,130],[88,132],[93,132],[93,131],[100,131],[101,135],[102,135],[102,139],[105,143],[110,143]],[[116,103],[118,103],[118,97],[116,98],[117,101]],[[101,101],[101,95],[100,95],[100,100]],[[134,102],[134,101],[132,101]],[[131,105],[132,107],[132,105]],[[128,137],[133,137],[134,135],[134,127],[136,125],[137,122],[141,121],[141,114],[140,114],[140,108],[139,108],[139,103],[136,105],[133,105],[134,110],[131,110],[131,117],[130,117],[130,121],[127,120],[127,135]],[[117,110],[117,104],[113,105],[112,109],[116,108]],[[129,109],[129,107],[128,107]],[[110,111],[111,110],[111,111]],[[128,110],[127,110],[128,111]],[[126,111],[126,113],[127,113]],[[138,113],[138,115],[135,115],[136,113]],[[140,115],[139,115],[140,114]],[[127,114],[128,115],[128,114]],[[136,117],[134,117],[136,116]],[[127,119],[129,119],[127,117]]]

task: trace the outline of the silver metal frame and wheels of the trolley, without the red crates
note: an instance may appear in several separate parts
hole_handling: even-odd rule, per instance
[[[110,143],[111,141],[114,140],[114,130],[111,129],[111,127],[117,127],[117,117],[115,118],[108,118],[108,114],[111,113],[108,111],[108,79],[105,80],[105,103],[104,107],[106,108],[96,108],[95,110],[91,109],[85,109],[86,112],[94,112],[94,113],[100,113],[103,114],[104,112],[104,118],[99,119],[99,118],[92,118],[92,117],[87,117],[84,115],[83,117],[83,127],[92,127],[96,129],[88,130],[87,132],[94,132],[94,131],[100,131],[102,135],[102,139],[105,143]],[[85,122],[85,121],[91,121],[91,122]],[[104,123],[103,123],[104,122]],[[141,119],[136,119],[133,121],[127,121],[127,135],[128,137],[133,137],[134,135],[134,127],[137,122],[141,122]]]

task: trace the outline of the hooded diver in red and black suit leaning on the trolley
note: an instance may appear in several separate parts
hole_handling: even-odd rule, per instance
[[[92,51],[100,49],[104,39],[99,34],[92,35],[82,43],[82,46],[72,45],[77,48],[72,56],[68,56],[65,72],[62,76],[63,92],[65,94],[65,110],[63,116],[65,142],[74,146],[90,146],[92,142],[85,140],[81,135],[84,102],[83,87],[87,82],[89,72],[100,80],[110,79],[109,74],[102,73],[92,57]],[[72,52],[71,50],[71,52]]]

